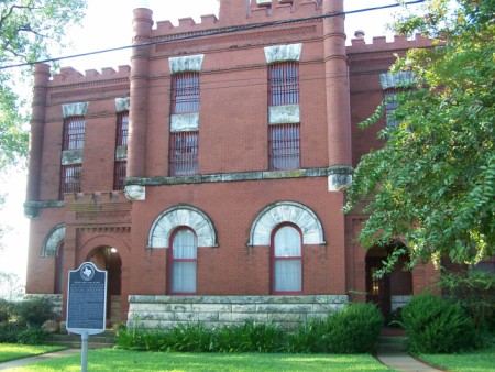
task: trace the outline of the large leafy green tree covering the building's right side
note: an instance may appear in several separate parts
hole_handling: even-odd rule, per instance
[[[452,7],[453,6],[453,7]],[[400,238],[414,266],[442,256],[474,264],[495,254],[495,0],[427,0],[402,15],[399,34],[420,32],[436,47],[411,50],[392,72],[413,72],[398,94],[383,149],[362,157],[344,210],[363,207],[364,247]],[[363,128],[374,124],[382,103]]]

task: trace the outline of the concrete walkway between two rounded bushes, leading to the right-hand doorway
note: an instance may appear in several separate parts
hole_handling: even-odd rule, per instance
[[[383,364],[405,372],[430,372],[442,371],[425,364],[406,352],[406,339],[404,337],[381,336],[376,359]]]

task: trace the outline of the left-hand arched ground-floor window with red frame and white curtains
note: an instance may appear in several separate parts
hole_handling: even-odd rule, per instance
[[[172,234],[169,262],[169,292],[196,293],[198,240],[189,228],[182,227]]]

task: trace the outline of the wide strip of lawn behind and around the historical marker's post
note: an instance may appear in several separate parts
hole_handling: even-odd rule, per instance
[[[90,350],[88,371],[387,371],[373,357],[333,354],[160,353]],[[15,370],[12,370],[15,371]],[[22,371],[80,371],[80,354],[25,365]],[[389,370],[388,370],[389,371]]]

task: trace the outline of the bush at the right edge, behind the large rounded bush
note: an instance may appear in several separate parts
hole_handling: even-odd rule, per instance
[[[494,273],[444,273],[440,276],[438,287],[446,298],[461,303],[477,329],[495,332]]]

